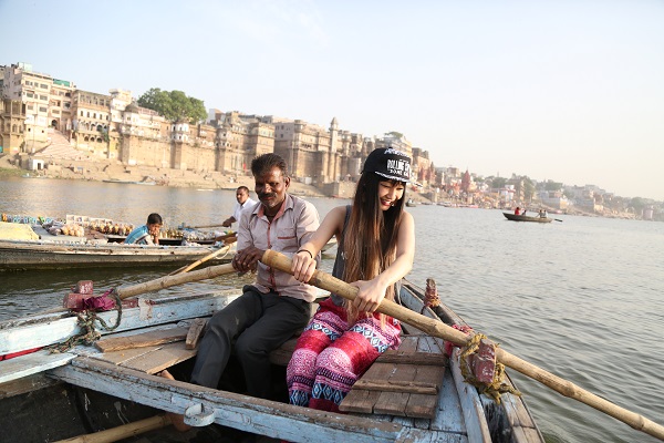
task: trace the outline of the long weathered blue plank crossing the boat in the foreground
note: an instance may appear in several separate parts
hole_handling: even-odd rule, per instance
[[[79,387],[180,414],[188,406],[201,404],[218,424],[291,442],[310,442],[312,435],[319,441],[338,443],[464,441],[457,434],[444,431],[414,429],[217,391],[86,358],[77,358],[50,374]]]

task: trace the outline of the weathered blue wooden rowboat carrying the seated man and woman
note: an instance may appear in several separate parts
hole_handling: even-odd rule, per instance
[[[497,404],[479,395],[463,380],[458,350],[447,358],[440,339],[414,328],[405,328],[401,349],[387,351],[385,359],[381,357],[383,360],[356,383],[361,385],[377,369],[383,381],[409,387],[409,392],[362,392],[354,388],[346,400],[355,400],[342,403],[342,410],[346,404],[345,414],[288,404],[284,365],[295,339],[270,356],[273,380],[280,381],[274,385],[273,400],[243,393],[241,372],[234,359],[219,390],[178,381],[187,380],[196,353],[181,341],[189,331],[187,322],[224,309],[238,296],[239,291],[230,290],[133,303],[124,300],[122,321],[113,331],[101,330],[102,340],[95,347],[80,344],[59,353],[42,349],[0,361],[3,440],[54,441],[101,430],[120,431],[115,429],[120,425],[139,427],[152,420],[156,426],[166,426],[144,433],[143,442],[219,441],[221,434],[240,441],[247,433],[291,442],[310,442],[312,435],[325,442],[543,442],[520,396],[504,394]],[[401,303],[416,312],[448,324],[465,324],[447,307],[424,308],[423,290],[414,285],[404,285],[400,296]],[[116,311],[97,316],[110,326],[117,319]],[[76,317],[69,312],[3,321],[0,356],[59,343],[80,332]],[[180,341],[168,342],[168,337]],[[118,350],[113,351],[110,342]],[[153,346],[122,349],[117,344],[123,342]],[[155,375],[166,368],[177,380]],[[425,384],[436,389],[426,394],[413,390]],[[185,414],[186,421],[198,427],[177,434],[175,440],[175,430],[162,418],[163,411]]]

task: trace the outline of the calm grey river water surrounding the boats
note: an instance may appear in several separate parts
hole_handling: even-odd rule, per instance
[[[310,198],[321,217],[347,200]],[[231,190],[95,182],[0,181],[0,212],[66,214],[208,225],[232,213]],[[445,303],[508,352],[618,405],[664,424],[664,224],[556,216],[508,222],[499,210],[418,206],[408,276],[438,284]],[[324,260],[323,269],[332,260]],[[0,272],[0,320],[52,308],[77,280],[107,289],[164,269]],[[246,277],[250,280],[250,277]],[[237,286],[216,280],[169,288]],[[511,371],[548,442],[655,442],[592,408]]]

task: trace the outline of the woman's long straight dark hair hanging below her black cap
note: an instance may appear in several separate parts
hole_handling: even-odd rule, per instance
[[[387,210],[381,209],[378,186],[381,182],[402,183],[404,195]],[[343,239],[345,281],[371,280],[384,271],[396,258],[396,240],[404,210],[405,186],[403,182],[386,179],[375,173],[365,172],[357,182],[353,209]],[[387,288],[385,298],[394,300],[394,288]],[[359,312],[346,303],[349,321]],[[383,320],[383,316],[381,316]]]

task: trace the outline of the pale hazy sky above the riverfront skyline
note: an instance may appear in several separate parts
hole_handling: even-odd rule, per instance
[[[0,0],[0,64],[664,200],[664,1]]]

